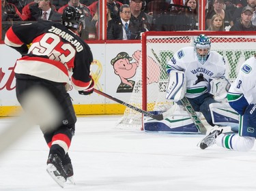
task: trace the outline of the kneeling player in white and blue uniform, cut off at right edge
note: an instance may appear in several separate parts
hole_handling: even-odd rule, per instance
[[[200,143],[205,149],[216,143],[229,150],[248,151],[253,148],[256,137],[256,54],[240,67],[236,81],[227,94],[229,105],[240,114],[238,134],[225,135],[213,131]]]

